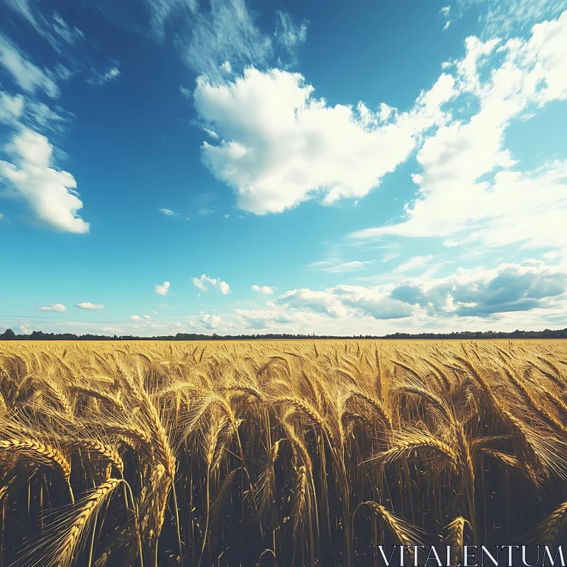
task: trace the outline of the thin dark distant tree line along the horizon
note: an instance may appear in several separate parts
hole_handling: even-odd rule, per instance
[[[11,329],[6,329],[0,335],[4,341],[210,341],[210,340],[266,340],[266,339],[567,339],[567,328],[552,331],[461,331],[461,332],[422,332],[410,334],[396,332],[393,335],[290,335],[288,333],[266,333],[264,335],[201,335],[197,333],[178,332],[176,335],[162,335],[159,337],[135,337],[133,335],[74,335],[73,333],[52,333],[33,331],[29,335],[16,335]]]

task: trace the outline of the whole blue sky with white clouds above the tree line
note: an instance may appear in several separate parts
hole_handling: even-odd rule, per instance
[[[0,331],[567,327],[567,1],[0,0]]]

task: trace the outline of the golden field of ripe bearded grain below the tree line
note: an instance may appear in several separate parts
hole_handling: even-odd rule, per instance
[[[553,544],[567,344],[0,343],[0,565],[383,565]]]

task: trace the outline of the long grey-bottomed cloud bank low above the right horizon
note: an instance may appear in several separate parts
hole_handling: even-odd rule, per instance
[[[495,269],[457,269],[441,279],[414,277],[381,286],[339,285],[284,293],[274,308],[314,312],[334,319],[395,320],[486,318],[530,310],[567,310],[567,263],[537,259],[500,264]],[[266,316],[264,315],[264,319]]]

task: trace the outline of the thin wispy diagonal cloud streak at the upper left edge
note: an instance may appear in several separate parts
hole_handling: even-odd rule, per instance
[[[0,35],[0,64],[24,91],[34,94],[35,91],[42,90],[52,98],[59,96],[59,88],[52,79],[52,73],[36,67],[20,48],[4,35]]]

